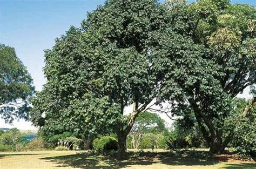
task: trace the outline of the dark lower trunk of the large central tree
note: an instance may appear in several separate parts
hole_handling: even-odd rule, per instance
[[[127,158],[126,154],[126,137],[127,135],[124,132],[119,132],[117,134],[117,159],[124,160]]]

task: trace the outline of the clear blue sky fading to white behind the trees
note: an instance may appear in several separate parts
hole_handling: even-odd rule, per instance
[[[256,0],[231,2],[256,5]],[[37,91],[41,91],[46,82],[42,71],[44,50],[50,49],[55,38],[63,35],[71,25],[79,27],[86,19],[86,13],[100,4],[104,4],[104,0],[0,0],[0,43],[16,49],[16,55],[30,72]],[[248,89],[240,97],[249,98]],[[168,121],[165,114],[160,116]],[[36,129],[24,120],[9,125],[0,119],[1,127]]]

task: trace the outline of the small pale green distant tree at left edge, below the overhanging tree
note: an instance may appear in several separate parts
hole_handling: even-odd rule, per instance
[[[15,150],[17,144],[22,142],[22,137],[24,136],[18,129],[10,129],[4,132],[0,137],[0,143],[3,145],[9,145],[11,151]]]

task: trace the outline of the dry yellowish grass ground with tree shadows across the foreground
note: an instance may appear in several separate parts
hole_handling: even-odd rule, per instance
[[[0,168],[256,168],[254,161],[240,161],[228,154],[210,159],[173,157],[158,150],[118,161],[85,151],[0,152]]]

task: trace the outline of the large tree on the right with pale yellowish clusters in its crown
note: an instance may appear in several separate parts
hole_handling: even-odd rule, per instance
[[[232,129],[224,132],[225,121],[234,111],[232,98],[247,86],[255,85],[256,10],[226,0],[191,4],[171,1],[168,5],[174,18],[172,24],[183,26],[183,29],[178,26],[176,31],[204,48],[204,53],[198,55],[200,60],[191,56],[188,62],[180,60],[184,69],[177,69],[176,74],[166,69],[166,76],[171,77],[165,78],[166,83],[176,85],[176,89],[172,85],[167,87],[170,92],[163,93],[163,98],[170,100],[174,115],[197,121],[212,153],[222,152],[233,137]],[[164,38],[167,37],[163,35],[161,39]],[[166,42],[169,40],[159,43],[165,52],[162,59],[169,58],[166,54],[173,52],[168,49],[171,44]],[[191,113],[194,116],[189,118]]]

